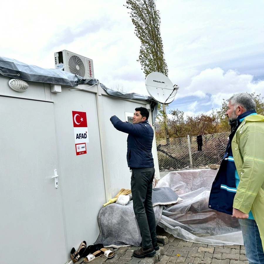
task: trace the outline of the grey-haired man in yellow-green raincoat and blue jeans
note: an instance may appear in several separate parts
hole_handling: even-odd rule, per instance
[[[228,101],[226,115],[232,132],[212,185],[209,208],[238,218],[249,264],[263,264],[264,116],[256,113],[251,94],[234,94]]]

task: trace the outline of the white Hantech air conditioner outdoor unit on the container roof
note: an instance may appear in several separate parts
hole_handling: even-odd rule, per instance
[[[55,68],[62,68],[65,72],[77,74],[84,79],[94,78],[93,60],[72,53],[68,50],[62,50],[54,53]],[[59,65],[62,63],[61,65]],[[60,67],[61,66],[61,67]]]

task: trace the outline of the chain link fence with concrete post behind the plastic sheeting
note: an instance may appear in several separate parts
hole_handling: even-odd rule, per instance
[[[228,143],[229,132],[202,136],[202,146],[196,136],[157,140],[160,171],[198,169],[220,164]],[[199,150],[199,151],[198,151]]]

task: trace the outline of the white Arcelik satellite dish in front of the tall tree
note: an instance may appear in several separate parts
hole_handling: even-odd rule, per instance
[[[170,104],[179,89],[178,85],[173,86],[170,79],[160,72],[151,72],[145,84],[150,96],[161,104]]]

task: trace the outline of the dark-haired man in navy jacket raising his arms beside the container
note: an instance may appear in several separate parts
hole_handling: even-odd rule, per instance
[[[133,252],[136,258],[155,255],[159,249],[156,235],[155,214],[152,206],[152,182],[155,169],[151,153],[154,131],[148,123],[149,112],[145,107],[137,107],[133,124],[112,116],[113,126],[127,137],[127,163],[132,172],[131,192],[133,209],[142,237],[142,246]]]

